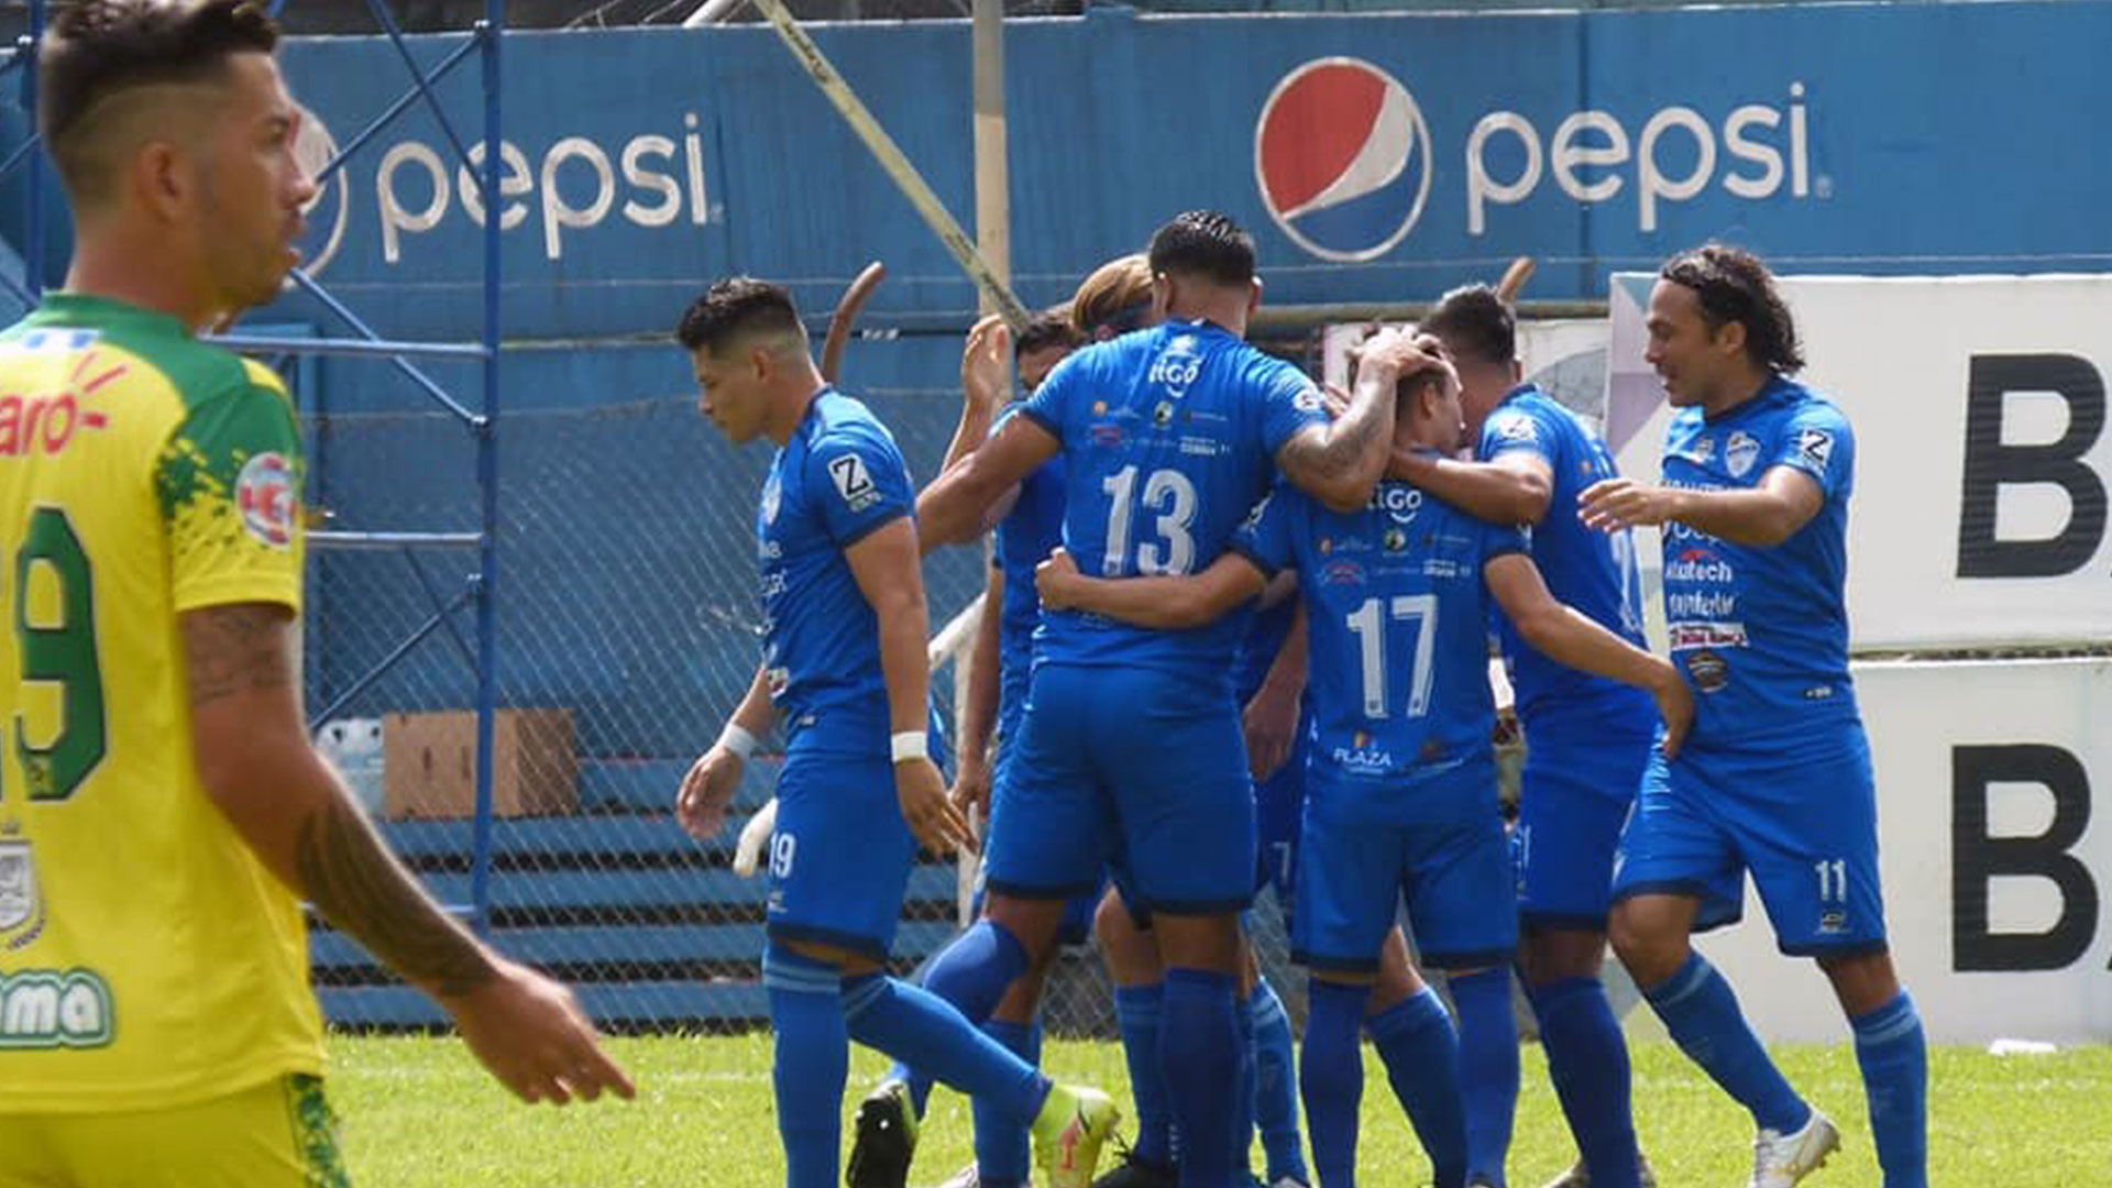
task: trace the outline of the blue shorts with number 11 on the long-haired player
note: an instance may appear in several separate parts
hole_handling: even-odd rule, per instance
[[[1882,951],[1878,784],[1863,727],[1795,748],[1652,755],[1620,841],[1614,898],[1700,898],[1696,930],[1736,922],[1745,873],[1791,955]]]

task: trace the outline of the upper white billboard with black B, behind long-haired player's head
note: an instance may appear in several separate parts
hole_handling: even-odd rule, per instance
[[[1643,364],[1652,283],[1609,285],[1607,442],[1637,478],[1658,476],[1668,416]],[[1854,649],[2112,638],[2112,277],[1785,277],[1783,292],[1802,378],[1856,431]]]

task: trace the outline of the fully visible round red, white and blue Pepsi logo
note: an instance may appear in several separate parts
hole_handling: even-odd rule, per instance
[[[1379,258],[1423,216],[1430,125],[1415,95],[1377,66],[1307,61],[1261,106],[1255,184],[1299,247],[1324,260]]]

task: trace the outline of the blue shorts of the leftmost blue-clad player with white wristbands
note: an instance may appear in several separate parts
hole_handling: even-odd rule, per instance
[[[794,742],[777,774],[769,936],[887,960],[914,862],[887,755],[815,755]]]

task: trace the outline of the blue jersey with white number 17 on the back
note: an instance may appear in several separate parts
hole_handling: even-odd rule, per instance
[[[1312,649],[1309,795],[1358,797],[1369,820],[1388,822],[1493,812],[1483,567],[1525,552],[1525,531],[1381,482],[1354,514],[1282,488],[1233,547],[1263,573],[1299,575]],[[1451,778],[1476,767],[1489,778]]]

